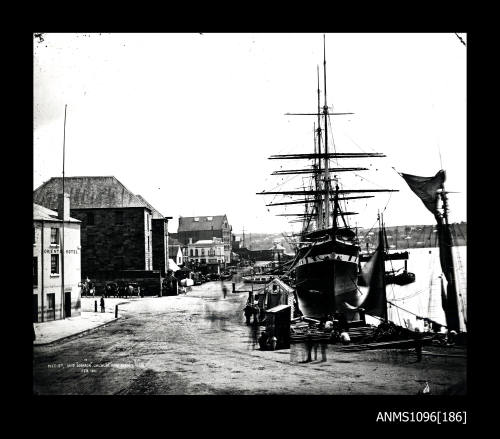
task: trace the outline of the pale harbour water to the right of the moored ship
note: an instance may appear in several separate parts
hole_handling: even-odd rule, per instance
[[[398,251],[402,251],[399,249]],[[441,264],[439,262],[439,248],[413,248],[404,249],[409,253],[408,271],[415,274],[415,282],[408,285],[388,284],[386,288],[387,300],[398,307],[404,308],[411,313],[421,317],[428,317],[432,320],[446,324],[445,314],[441,305]],[[455,263],[457,299],[460,311],[461,329],[465,330],[466,325],[463,315],[467,315],[467,247],[460,246],[453,248]],[[404,261],[386,261],[386,270],[399,269],[404,267]],[[446,280],[444,281],[446,287]],[[363,293],[366,287],[360,287]],[[464,312],[462,312],[462,310]],[[389,305],[389,320],[403,327],[419,328],[424,330],[423,320],[419,320],[410,312],[403,311],[395,306]],[[409,322],[408,322],[409,320]],[[378,320],[367,316],[367,323],[378,324]]]

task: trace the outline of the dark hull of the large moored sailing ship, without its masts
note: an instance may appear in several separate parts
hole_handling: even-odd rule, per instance
[[[359,247],[329,241],[303,248],[301,253],[295,273],[302,313],[319,319],[339,311],[348,320],[357,320],[357,313],[349,305],[361,304],[357,287]]]

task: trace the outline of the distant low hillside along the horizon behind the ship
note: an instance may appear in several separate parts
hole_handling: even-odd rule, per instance
[[[436,225],[410,225],[386,227],[387,241],[391,248],[405,249],[418,247],[436,247],[437,233]],[[467,245],[467,223],[451,224],[453,242],[455,245]],[[240,240],[241,233],[235,233]],[[377,245],[378,228],[358,229],[358,236],[362,249],[366,244],[370,247]],[[273,246],[274,241],[279,241],[285,247],[287,253],[294,253],[290,244],[281,233],[245,233],[245,246],[250,250],[266,250]]]

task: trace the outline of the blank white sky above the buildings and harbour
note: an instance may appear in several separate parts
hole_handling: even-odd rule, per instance
[[[466,43],[467,35],[459,34]],[[338,152],[364,166],[345,189],[396,189],[349,202],[352,226],[434,224],[397,174],[447,173],[451,222],[466,221],[466,56],[454,33],[326,34],[330,110]],[[65,34],[33,38],[33,188],[62,176],[115,176],[165,216],[226,214],[233,233],[296,232],[298,206],[256,195],[296,190],[305,167],[272,154],[313,152],[323,34]],[[333,144],[329,147],[330,150]],[[334,163],[335,165],[335,163]],[[299,205],[300,206],[300,205]]]

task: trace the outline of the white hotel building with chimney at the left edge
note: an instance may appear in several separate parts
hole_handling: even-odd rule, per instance
[[[59,203],[58,212],[33,204],[33,322],[81,314],[81,223],[68,194]]]

